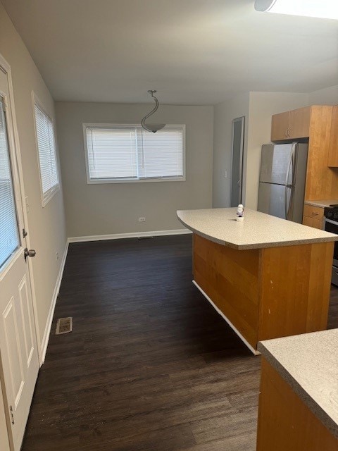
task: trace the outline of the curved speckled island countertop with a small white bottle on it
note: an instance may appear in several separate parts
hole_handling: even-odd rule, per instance
[[[239,250],[338,241],[333,233],[249,209],[237,222],[236,210],[178,210],[177,218],[197,235]]]

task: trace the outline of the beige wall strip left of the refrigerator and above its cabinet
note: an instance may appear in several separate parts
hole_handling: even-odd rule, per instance
[[[245,205],[256,210],[262,144],[270,142],[271,116],[308,104],[308,94],[250,92]]]

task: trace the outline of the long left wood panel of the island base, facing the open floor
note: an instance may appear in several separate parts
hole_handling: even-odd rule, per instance
[[[194,234],[194,280],[256,349],[259,250],[237,251]]]

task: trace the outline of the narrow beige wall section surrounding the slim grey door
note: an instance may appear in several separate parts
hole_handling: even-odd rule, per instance
[[[232,120],[245,116],[244,160],[249,129],[249,92],[215,105],[213,122],[213,207],[230,206]],[[227,178],[224,173],[227,171]],[[245,167],[244,167],[245,173]],[[245,190],[245,180],[244,180]]]

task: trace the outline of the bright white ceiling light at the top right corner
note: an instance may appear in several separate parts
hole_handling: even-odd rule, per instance
[[[338,19],[337,0],[256,0],[256,11]]]

